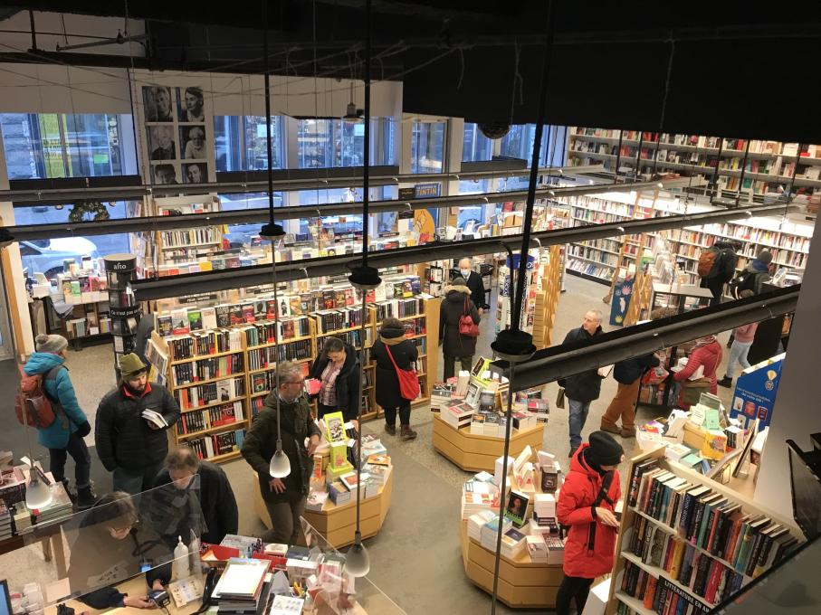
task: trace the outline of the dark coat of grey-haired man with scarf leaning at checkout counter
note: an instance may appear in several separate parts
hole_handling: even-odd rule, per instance
[[[226,534],[236,534],[239,527],[239,517],[236,508],[236,498],[234,497],[234,490],[231,488],[231,483],[228,477],[225,476],[223,468],[209,462],[200,461],[199,468],[196,470],[196,475],[192,479],[199,479],[196,485],[196,497],[194,503],[202,510],[202,517],[205,521],[205,529],[200,535],[200,540],[204,543],[220,544]],[[157,480],[154,483],[155,487],[162,487],[163,499],[167,500],[170,496],[173,500],[177,500],[178,496],[187,496],[186,489],[182,491],[171,485],[171,477],[168,470],[163,468],[157,475]],[[159,495],[159,494],[158,494]],[[172,506],[177,506],[178,503],[172,501],[167,502]],[[164,532],[165,534],[165,532]],[[172,536],[177,536],[178,532],[172,532]]]

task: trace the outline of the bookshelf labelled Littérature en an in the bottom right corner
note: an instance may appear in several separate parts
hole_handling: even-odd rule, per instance
[[[620,604],[643,615],[677,612],[681,601],[711,612],[802,540],[791,521],[664,459],[664,451],[635,457],[628,468],[606,615],[625,612]]]

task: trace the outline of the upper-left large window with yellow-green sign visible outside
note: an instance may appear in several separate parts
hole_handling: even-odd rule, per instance
[[[136,173],[130,115],[0,113],[9,179]]]

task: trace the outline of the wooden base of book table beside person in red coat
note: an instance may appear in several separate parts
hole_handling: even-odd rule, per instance
[[[459,528],[464,573],[477,587],[493,591],[493,552],[467,534],[467,522]],[[513,559],[501,556],[499,563],[499,600],[511,608],[553,609],[561,583],[561,564],[532,563],[528,550]]]

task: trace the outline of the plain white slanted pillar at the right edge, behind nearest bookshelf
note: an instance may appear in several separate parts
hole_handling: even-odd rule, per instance
[[[781,368],[781,382],[761,459],[755,499],[783,516],[792,517],[788,451],[785,440],[811,449],[809,434],[821,431],[821,232],[816,231],[809,251],[807,271],[798,298],[789,347]],[[812,255],[816,256],[813,257]]]

